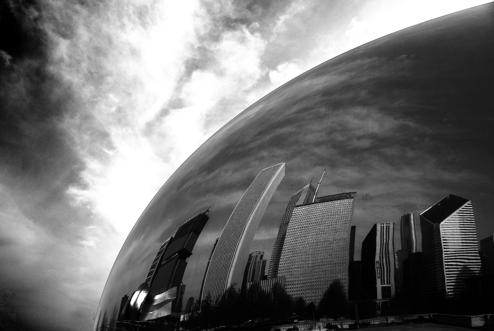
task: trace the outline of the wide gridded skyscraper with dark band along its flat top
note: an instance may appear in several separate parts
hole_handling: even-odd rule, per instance
[[[350,224],[356,192],[295,206],[288,223],[278,276],[288,294],[319,302],[332,281],[348,289]]]

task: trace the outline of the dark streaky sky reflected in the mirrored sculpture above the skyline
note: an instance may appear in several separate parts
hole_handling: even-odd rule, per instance
[[[222,127],[140,216],[96,320],[105,310],[109,318],[122,296],[144,282],[160,245],[186,219],[211,206],[183,277],[184,302],[197,299],[211,248],[233,208],[261,169],[282,162],[286,175],[250,248],[264,251],[268,261],[290,197],[324,168],[318,196],[357,192],[356,260],[374,223],[395,222],[398,250],[403,212],[419,214],[450,193],[472,200],[479,239],[493,235],[493,14],[490,3],[357,47]]]

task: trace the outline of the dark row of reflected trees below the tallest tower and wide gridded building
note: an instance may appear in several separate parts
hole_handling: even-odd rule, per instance
[[[329,286],[317,304],[305,302],[301,297],[292,298],[281,287],[275,286],[267,293],[258,286],[241,291],[232,285],[216,304],[207,295],[202,302],[196,301],[183,326],[189,330],[262,328],[291,323],[293,319],[300,321],[329,317],[336,320],[347,313],[348,301],[339,280]]]

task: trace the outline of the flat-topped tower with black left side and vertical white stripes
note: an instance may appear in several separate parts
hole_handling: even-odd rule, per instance
[[[395,296],[394,223],[377,223],[362,242],[361,284],[369,299]]]

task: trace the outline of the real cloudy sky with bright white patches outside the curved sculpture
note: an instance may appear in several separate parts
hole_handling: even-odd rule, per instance
[[[3,1],[1,318],[88,330],[135,221],[221,126],[336,55],[485,2]]]

